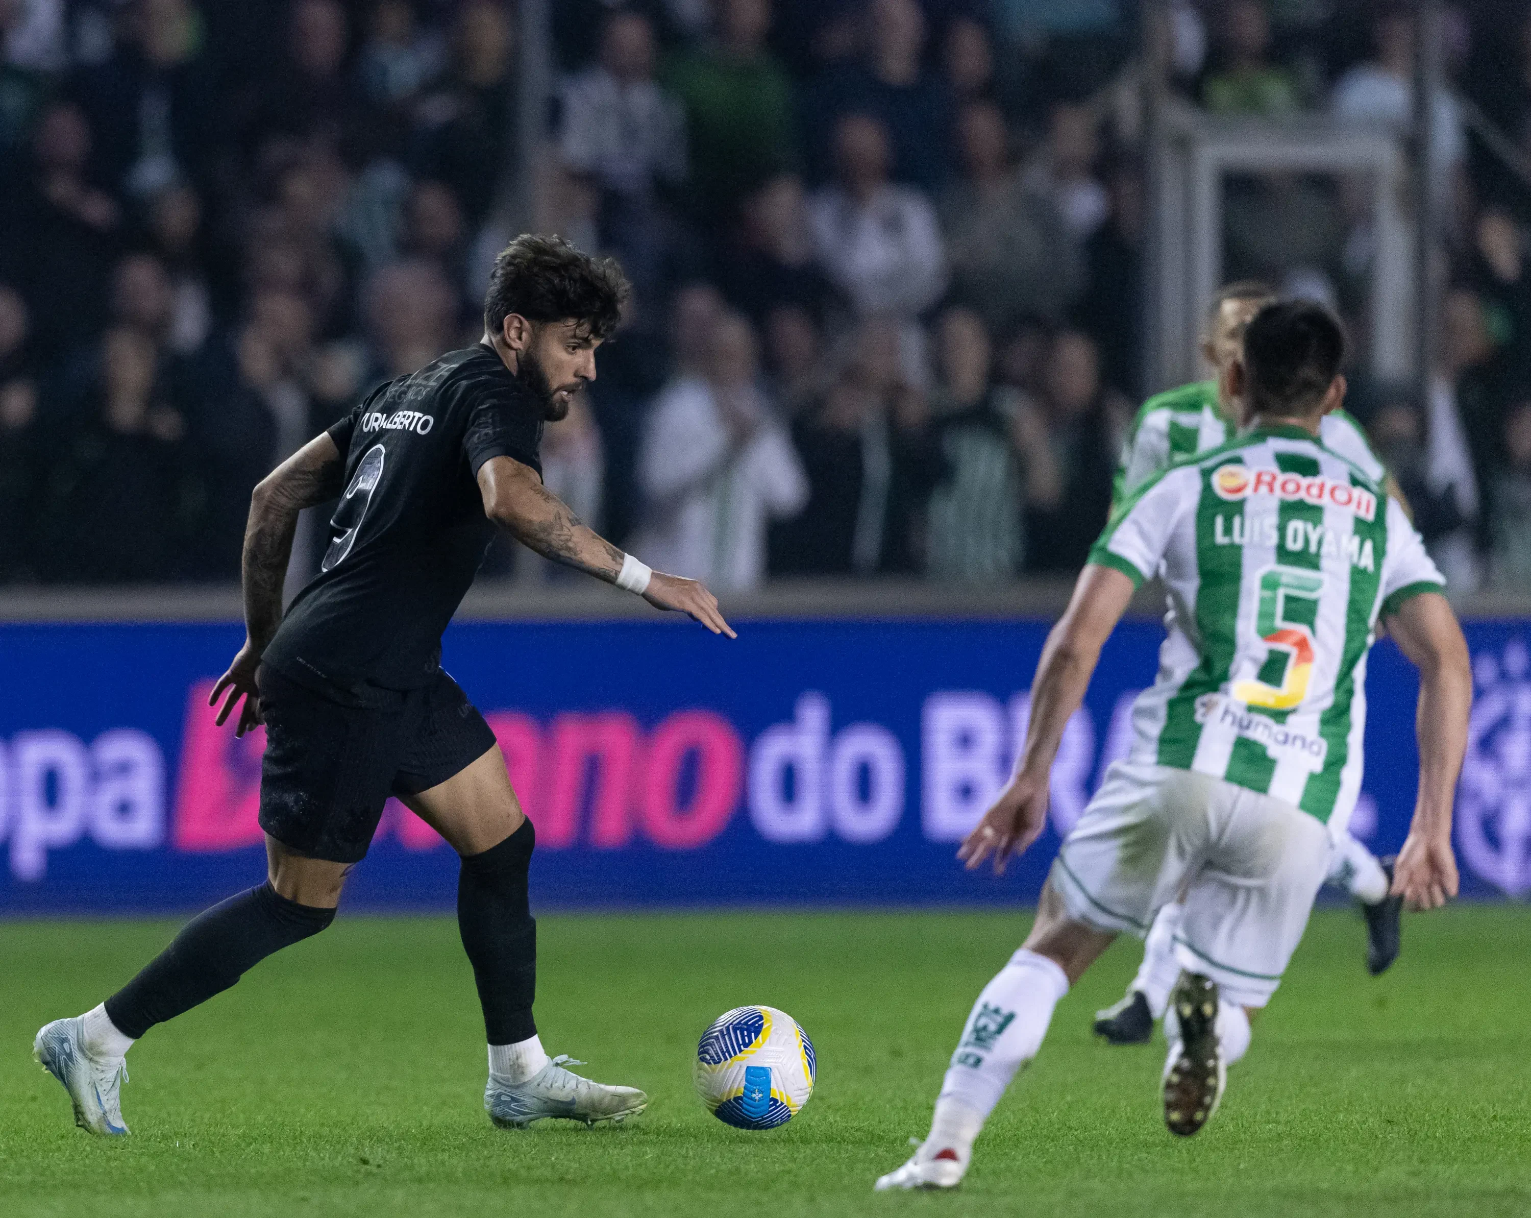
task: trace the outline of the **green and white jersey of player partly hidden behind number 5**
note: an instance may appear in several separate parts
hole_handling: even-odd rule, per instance
[[[1160,469],[1199,452],[1211,452],[1231,438],[1232,427],[1217,411],[1217,381],[1199,380],[1154,394],[1138,411],[1122,443],[1122,457],[1112,484],[1112,507]],[[1373,483],[1387,476],[1361,424],[1344,411],[1324,415],[1324,421],[1318,424],[1318,438],[1352,466],[1360,466]]]

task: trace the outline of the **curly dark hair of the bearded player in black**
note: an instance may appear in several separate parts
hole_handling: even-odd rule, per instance
[[[608,339],[622,320],[628,277],[614,257],[591,257],[563,237],[522,233],[501,250],[484,296],[484,325],[499,334],[519,313],[528,322],[579,322],[579,334]]]

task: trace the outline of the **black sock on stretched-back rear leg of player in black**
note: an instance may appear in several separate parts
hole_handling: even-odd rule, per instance
[[[288,901],[271,882],[199,913],[136,977],[106,1000],[106,1013],[135,1040],[222,993],[273,951],[318,935],[332,909]]]

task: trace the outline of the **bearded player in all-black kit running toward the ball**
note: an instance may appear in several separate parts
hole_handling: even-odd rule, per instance
[[[478,346],[374,391],[256,487],[246,639],[211,702],[224,699],[219,723],[243,702],[239,734],[266,726],[266,882],[194,918],[101,1005],[38,1031],[34,1054],[69,1091],[81,1128],[127,1132],[119,1086],[133,1040],[334,921],[389,795],[462,858],[458,925],[488,1034],[491,1120],[525,1128],[643,1111],[641,1091],[582,1079],[542,1049],[527,901],[534,832],[493,732],[439,665],[441,634],[496,529],[733,637],[701,584],[623,555],[542,486],[542,427],[596,378],[596,348],[626,291],[609,259],[517,237],[495,264]],[[283,616],[299,512],[337,495],[320,573]]]

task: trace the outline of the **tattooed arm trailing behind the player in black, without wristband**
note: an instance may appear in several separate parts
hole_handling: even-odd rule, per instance
[[[245,522],[245,550],[240,575],[245,588],[245,645],[239,648],[228,671],[217,679],[208,705],[228,692],[217,712],[222,726],[230,712],[245,700],[234,735],[243,735],[260,723],[260,691],[256,670],[266,645],[282,625],[282,584],[288,559],[292,558],[292,535],[297,515],[344,489],[346,461],[329,438],[329,432],[309,440],[286,461],[260,480],[250,496],[250,519]]]

